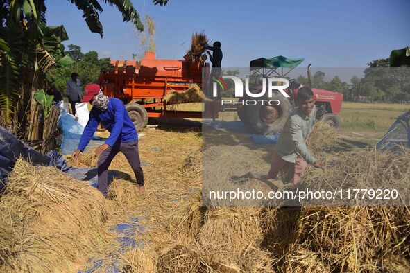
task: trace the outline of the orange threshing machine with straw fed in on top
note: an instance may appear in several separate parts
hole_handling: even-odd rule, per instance
[[[119,98],[126,104],[137,130],[146,127],[148,118],[216,118],[219,107],[205,103],[205,112],[167,110],[164,98],[169,91],[186,91],[192,84],[202,88],[210,73],[208,63],[191,60],[155,59],[155,53],[146,52],[140,62],[112,60],[108,71],[99,81],[104,94]],[[205,68],[205,69],[204,69]]]

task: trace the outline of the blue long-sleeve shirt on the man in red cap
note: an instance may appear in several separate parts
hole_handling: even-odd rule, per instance
[[[92,107],[91,112],[89,112],[89,120],[84,128],[83,135],[81,135],[80,143],[78,143],[78,150],[84,151],[100,122],[110,132],[105,144],[111,147],[117,141],[131,142],[138,139],[135,125],[131,121],[122,101],[118,98],[109,98],[108,108],[105,111]]]

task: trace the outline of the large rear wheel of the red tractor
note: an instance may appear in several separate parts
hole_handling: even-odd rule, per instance
[[[292,112],[291,103],[279,92],[274,93],[268,100],[278,100],[279,105],[244,105],[238,109],[238,116],[243,123],[259,134],[275,134],[280,132]]]

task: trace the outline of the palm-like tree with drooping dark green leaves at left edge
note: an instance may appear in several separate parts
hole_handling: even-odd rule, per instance
[[[137,10],[130,0],[69,0],[79,10],[89,30],[103,37],[99,13],[100,3],[114,6],[123,21],[131,21],[138,30],[144,30]],[[166,5],[168,0],[153,0],[155,5]],[[46,26],[44,0],[0,0],[0,109],[3,121],[9,123],[13,115],[15,131],[24,131],[26,110],[31,105],[33,91],[40,87],[39,80],[55,65],[53,53],[60,42],[68,39],[62,26]],[[55,50],[54,52],[50,52]],[[44,77],[43,77],[44,78]],[[17,102],[23,102],[21,104]]]

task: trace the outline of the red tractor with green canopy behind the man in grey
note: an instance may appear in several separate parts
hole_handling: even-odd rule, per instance
[[[252,82],[258,82],[253,86],[257,93],[262,89],[259,79],[268,77],[286,78],[287,75],[300,64],[304,59],[291,59],[277,56],[271,59],[259,58],[250,61],[249,78]],[[309,85],[311,86],[311,76],[308,66]],[[284,71],[287,70],[287,71]],[[279,105],[267,105],[258,103],[256,105],[244,105],[238,108],[238,116],[242,122],[253,128],[260,134],[274,134],[280,132],[287,121],[293,107],[295,107],[295,98],[298,95],[300,83],[297,80],[289,80],[289,88],[286,90],[289,98],[286,98],[279,91],[274,92],[270,100],[278,100]],[[343,94],[334,91],[311,88],[314,92],[315,105],[318,109],[316,119],[323,120],[333,127],[341,127],[341,120],[338,114],[341,111]],[[248,100],[249,97],[243,98]]]

